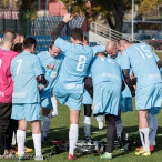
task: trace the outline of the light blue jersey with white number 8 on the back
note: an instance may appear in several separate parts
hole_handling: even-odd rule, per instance
[[[64,53],[54,89],[65,93],[83,93],[83,79],[93,55],[92,48],[73,44],[61,38],[55,40],[54,45]]]

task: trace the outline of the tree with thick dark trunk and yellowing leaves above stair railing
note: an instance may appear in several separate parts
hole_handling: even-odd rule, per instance
[[[148,3],[148,1],[150,1]],[[149,6],[150,9],[155,6],[158,0],[134,0],[141,8]],[[123,18],[126,11],[132,8],[131,0],[90,0],[91,7],[87,6],[87,0],[62,0],[72,13],[84,13],[90,21],[95,20],[100,14],[110,26],[110,28],[122,32]],[[153,4],[153,6],[152,6]]]

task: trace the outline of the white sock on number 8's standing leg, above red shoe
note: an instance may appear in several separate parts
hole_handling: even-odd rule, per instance
[[[71,124],[69,130],[69,154],[74,153],[75,144],[78,141],[78,133],[79,133],[79,126],[78,124]]]

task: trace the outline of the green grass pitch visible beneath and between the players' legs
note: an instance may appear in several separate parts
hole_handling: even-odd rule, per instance
[[[158,53],[158,55],[162,60],[162,52]],[[122,114],[122,121],[124,125],[124,133],[132,133],[132,136],[139,139],[139,132],[138,132],[138,114],[134,105],[134,99],[133,99],[133,112],[128,112]],[[114,150],[113,152],[113,159],[111,161],[113,162],[162,162],[162,112],[158,114],[158,121],[159,121],[159,129],[158,129],[158,136],[156,136],[156,146],[155,151],[152,153],[151,156],[144,158],[144,156],[135,156],[134,150],[135,148],[132,148],[131,151],[119,151]],[[84,138],[83,133],[83,109],[81,111],[80,115],[80,129],[79,129],[79,139]],[[69,110],[65,105],[59,104],[59,115],[57,118],[53,118],[51,120],[50,125],[50,132],[49,132],[49,139],[61,139],[61,140],[68,140],[69,138]],[[92,138],[97,140],[105,140],[105,124],[103,130],[98,129],[98,122],[95,121],[94,117],[92,117]],[[27,146],[33,148],[32,138],[31,138],[31,126],[28,125],[27,131]],[[47,158],[44,161],[47,162],[64,162],[68,161],[68,152],[62,152],[60,154],[51,155],[51,149],[52,146],[42,145],[42,153]],[[32,153],[27,153],[26,155],[30,159]],[[98,162],[98,161],[109,161],[109,160],[100,160],[99,155],[94,156],[94,154],[77,154],[78,159],[75,161],[78,162]],[[0,160],[0,161],[7,161],[7,162],[16,162],[16,159],[8,159],[8,160]],[[28,162],[34,161],[33,159],[27,160]]]

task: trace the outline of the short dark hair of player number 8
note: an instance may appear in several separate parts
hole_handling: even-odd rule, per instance
[[[83,41],[83,32],[80,28],[73,28],[70,37],[72,37],[74,40]]]

